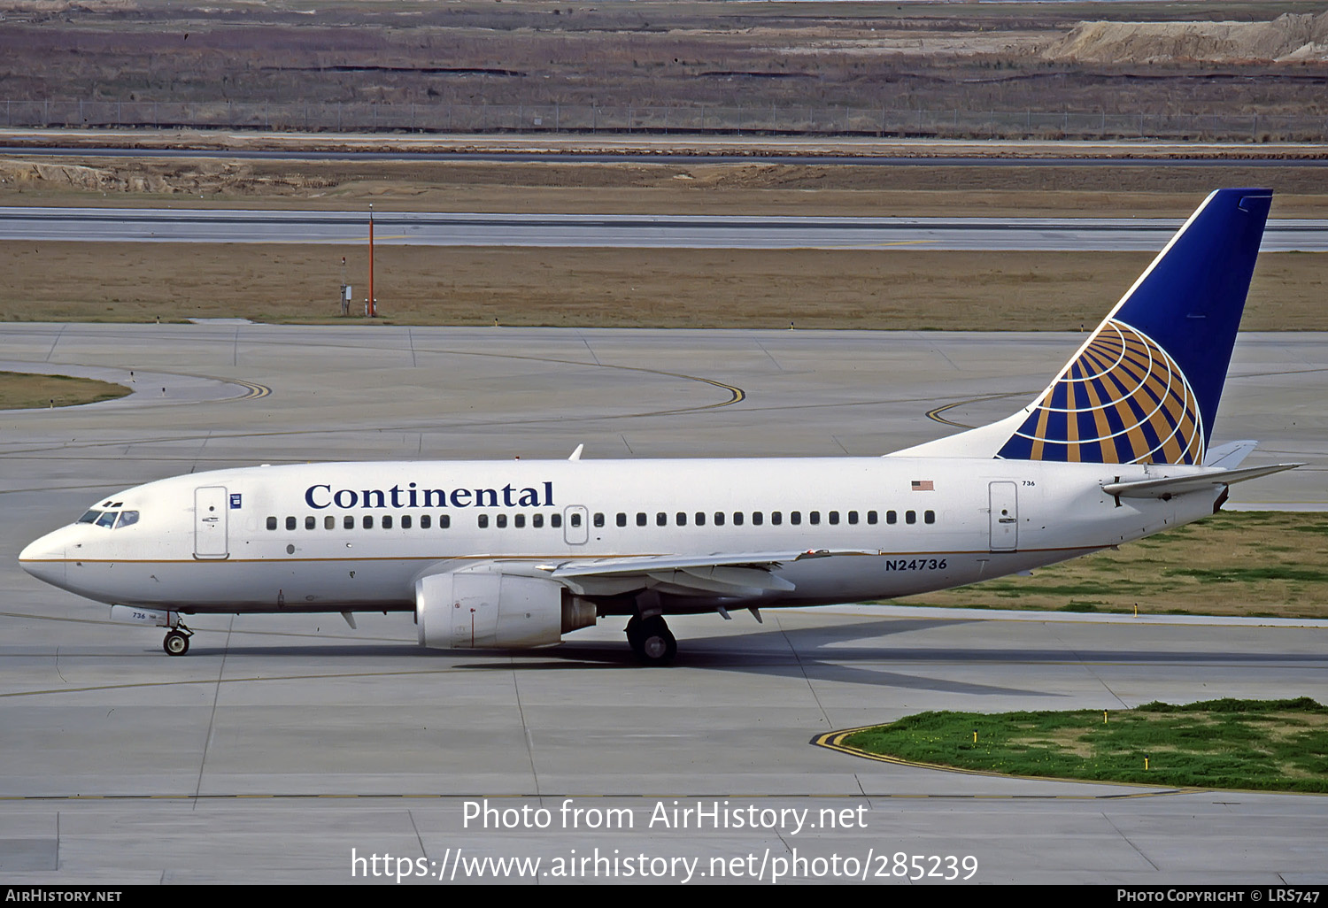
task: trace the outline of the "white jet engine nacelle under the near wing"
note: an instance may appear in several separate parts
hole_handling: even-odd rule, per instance
[[[566,621],[568,607],[580,617],[583,609],[575,608],[560,583],[503,573],[497,566],[434,573],[416,581],[420,643],[440,649],[555,644],[563,631],[595,623],[594,609],[588,623]]]

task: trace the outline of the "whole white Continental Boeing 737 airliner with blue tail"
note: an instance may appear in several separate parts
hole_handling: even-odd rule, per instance
[[[315,463],[161,479],[28,546],[29,573],[183,615],[414,612],[420,643],[542,646],[627,617],[890,599],[1216,511],[1254,442],[1210,447],[1272,195],[1219,190],[1050,385],[1007,419],[874,458]]]

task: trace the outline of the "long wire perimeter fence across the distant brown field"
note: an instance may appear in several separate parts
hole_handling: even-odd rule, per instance
[[[853,106],[588,106],[5,101],[9,127],[240,129],[301,133],[647,133],[939,138],[1328,139],[1328,117]]]

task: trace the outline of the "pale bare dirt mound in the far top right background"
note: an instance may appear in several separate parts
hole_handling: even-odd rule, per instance
[[[1328,61],[1328,12],[1270,23],[1080,23],[1042,52],[1080,64]]]

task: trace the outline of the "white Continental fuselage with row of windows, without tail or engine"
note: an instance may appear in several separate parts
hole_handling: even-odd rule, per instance
[[[21,560],[89,599],[193,613],[405,611],[421,576],[466,563],[826,552],[781,559],[778,588],[659,584],[671,612],[814,605],[975,583],[1187,523],[1215,492],[1117,502],[1101,486],[1190,469],[899,457],[246,467],[126,490],[105,507],[135,522],[62,527]],[[568,585],[619,611],[611,579]]]

